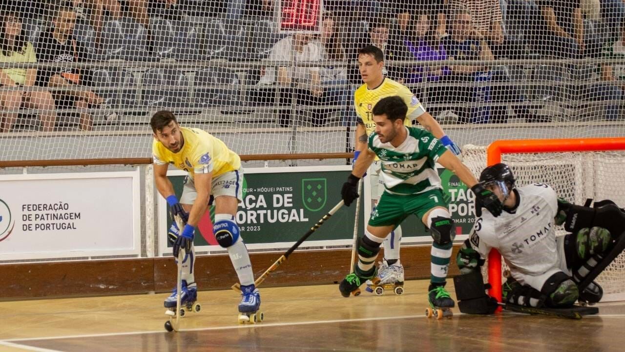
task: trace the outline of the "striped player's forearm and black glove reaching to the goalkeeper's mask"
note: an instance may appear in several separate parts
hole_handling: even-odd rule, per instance
[[[475,194],[475,214],[480,217],[482,215],[482,207],[485,207],[495,217],[501,215],[502,204],[499,198],[487,190],[464,165],[456,155],[446,150],[437,160],[447,170],[455,173],[456,176],[464,182],[465,185],[471,187]]]

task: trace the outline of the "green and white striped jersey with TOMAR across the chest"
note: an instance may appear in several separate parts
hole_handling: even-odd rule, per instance
[[[406,130],[407,138],[397,148],[380,142],[375,132],[369,136],[369,150],[376,153],[382,163],[380,178],[386,192],[407,195],[442,189],[434,165],[447,148],[422,128],[406,127]]]

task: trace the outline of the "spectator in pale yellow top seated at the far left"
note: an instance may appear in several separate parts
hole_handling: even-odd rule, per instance
[[[34,63],[34,46],[26,41],[19,14],[0,9],[0,63]],[[42,130],[51,132],[56,122],[54,100],[49,91],[31,90],[37,77],[36,68],[4,68],[0,70],[0,85],[14,89],[0,93],[0,106],[16,111],[21,106],[39,110]],[[17,113],[4,113],[0,132],[9,132],[17,120]]]

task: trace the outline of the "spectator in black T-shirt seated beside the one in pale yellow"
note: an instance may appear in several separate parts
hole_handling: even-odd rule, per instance
[[[41,33],[37,40],[37,53],[41,62],[79,62],[86,56],[76,44],[72,33],[76,13],[72,8],[61,7],[53,18],[53,28]],[[68,88],[67,90],[53,90],[56,106],[74,106],[76,108],[93,108],[104,103],[104,100],[89,90],[76,90],[79,86],[88,83],[88,70],[74,68],[42,69],[39,81],[44,86],[54,88]],[[80,128],[90,131],[93,118],[88,113],[80,113]]]

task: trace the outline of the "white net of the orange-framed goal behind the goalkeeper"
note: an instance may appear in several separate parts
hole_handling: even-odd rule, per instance
[[[486,165],[484,147],[467,146],[464,163],[479,175]],[[567,153],[510,153],[502,155],[502,162],[512,169],[517,185],[544,183],[556,190],[558,197],[583,205],[586,199],[610,199],[619,207],[625,206],[625,151],[567,152]],[[556,236],[566,234],[562,227]],[[487,279],[484,266],[483,274]],[[502,263],[502,274],[507,269]],[[604,301],[625,299],[625,254],[619,255],[597,282],[604,290]]]

